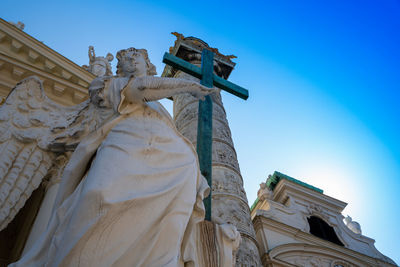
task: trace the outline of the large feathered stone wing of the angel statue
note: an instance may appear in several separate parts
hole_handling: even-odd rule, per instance
[[[54,103],[35,76],[10,92],[0,107],[0,231],[48,173],[56,157],[53,151],[73,150],[111,115],[98,109],[89,101],[72,107]]]

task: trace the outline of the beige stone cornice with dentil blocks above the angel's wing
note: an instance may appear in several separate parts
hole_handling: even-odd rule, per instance
[[[46,94],[63,105],[87,98],[93,74],[12,24],[0,19],[0,96],[6,97],[22,79],[36,75]]]

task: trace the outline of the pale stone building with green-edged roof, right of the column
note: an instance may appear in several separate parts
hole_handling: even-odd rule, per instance
[[[282,173],[269,176],[251,208],[263,266],[397,266],[343,217],[346,205]]]

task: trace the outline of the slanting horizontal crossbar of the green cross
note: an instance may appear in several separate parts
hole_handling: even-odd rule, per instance
[[[190,64],[186,60],[173,56],[170,53],[164,54],[163,63],[168,64],[183,72],[186,72],[198,79],[202,78],[201,68],[197,67],[196,65]],[[222,90],[227,91],[228,93],[231,93],[244,100],[249,97],[249,91],[247,89],[231,83],[215,74],[213,74],[213,84],[216,87],[221,88]]]

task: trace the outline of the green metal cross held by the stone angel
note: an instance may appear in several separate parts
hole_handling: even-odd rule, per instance
[[[164,54],[163,63],[201,79],[200,83],[206,87],[216,86],[244,100],[249,97],[249,91],[246,89],[214,74],[214,53],[208,49],[203,49],[201,53],[201,68],[169,53]],[[212,186],[212,110],[210,96],[206,96],[204,101],[199,101],[197,155],[200,171],[210,187]],[[205,219],[211,221],[211,192],[204,199],[204,205],[206,207]]]

